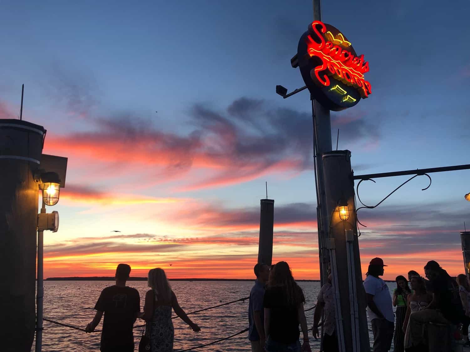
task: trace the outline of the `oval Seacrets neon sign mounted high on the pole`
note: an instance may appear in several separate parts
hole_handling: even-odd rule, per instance
[[[314,99],[330,110],[356,105],[372,93],[365,80],[369,63],[357,55],[352,43],[332,25],[314,21],[300,38],[298,66]]]

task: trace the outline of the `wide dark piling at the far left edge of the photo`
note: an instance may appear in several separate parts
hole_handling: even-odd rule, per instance
[[[2,352],[29,352],[34,338],[39,168],[46,130],[0,120],[0,341]]]

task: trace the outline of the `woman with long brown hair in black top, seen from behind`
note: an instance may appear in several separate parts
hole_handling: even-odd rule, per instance
[[[304,292],[292,277],[289,264],[278,262],[269,276],[263,303],[267,352],[310,351],[304,303]],[[302,347],[299,324],[304,335]]]

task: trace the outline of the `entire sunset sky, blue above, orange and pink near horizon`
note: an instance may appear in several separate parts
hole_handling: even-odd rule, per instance
[[[323,21],[369,61],[372,95],[332,112],[355,174],[468,164],[469,0],[323,1]],[[0,2],[0,118],[47,129],[68,157],[46,232],[45,277],[252,278],[259,199],[274,204],[274,262],[318,279],[309,95],[290,58],[311,1]],[[156,113],[156,111],[158,111]],[[358,216],[363,273],[463,271],[470,170],[416,177]],[[361,184],[376,204],[407,176]],[[121,232],[111,232],[119,230]],[[172,266],[170,266],[172,264]]]

